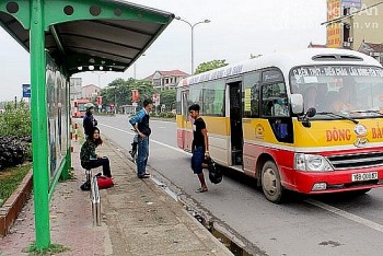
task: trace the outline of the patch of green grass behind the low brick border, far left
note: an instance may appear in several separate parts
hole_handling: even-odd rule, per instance
[[[0,200],[3,200],[3,202],[8,200],[31,168],[32,163],[27,163],[18,167],[5,168],[0,172]]]

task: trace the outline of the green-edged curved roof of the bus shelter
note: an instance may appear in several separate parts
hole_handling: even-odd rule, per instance
[[[33,1],[0,3],[0,25],[30,51]],[[45,48],[68,74],[125,71],[174,14],[118,0],[45,0]]]

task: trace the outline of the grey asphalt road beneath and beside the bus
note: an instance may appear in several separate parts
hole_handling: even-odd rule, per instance
[[[102,133],[127,151],[132,139],[128,118],[97,117]],[[254,181],[229,174],[209,193],[195,194],[198,181],[189,167],[190,154],[176,148],[174,123],[151,120],[149,164],[172,189],[205,209],[237,243],[257,255],[382,255],[383,189],[350,198],[292,198],[274,205],[254,187]],[[160,178],[161,179],[161,178]]]

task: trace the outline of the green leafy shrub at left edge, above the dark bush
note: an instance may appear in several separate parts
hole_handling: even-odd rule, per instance
[[[31,113],[24,101],[9,102],[0,114],[0,136],[31,136]]]

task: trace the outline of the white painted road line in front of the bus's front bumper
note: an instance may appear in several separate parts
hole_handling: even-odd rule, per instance
[[[338,209],[336,207],[332,207],[332,206],[326,205],[326,203],[321,202],[321,201],[316,201],[316,200],[312,200],[312,199],[306,199],[304,201],[309,202],[309,203],[311,203],[313,206],[316,206],[318,208],[322,208],[322,209],[324,209],[326,211],[333,212],[333,213],[335,213],[337,216],[344,217],[344,218],[346,218],[346,219],[348,219],[350,221],[357,222],[359,224],[365,225],[368,228],[371,228],[373,230],[376,230],[376,231],[383,233],[383,225],[381,225],[381,224],[378,224],[375,222],[369,221],[369,220],[367,220],[364,218],[361,218],[361,217],[352,214],[350,212],[340,210],[340,209]]]

